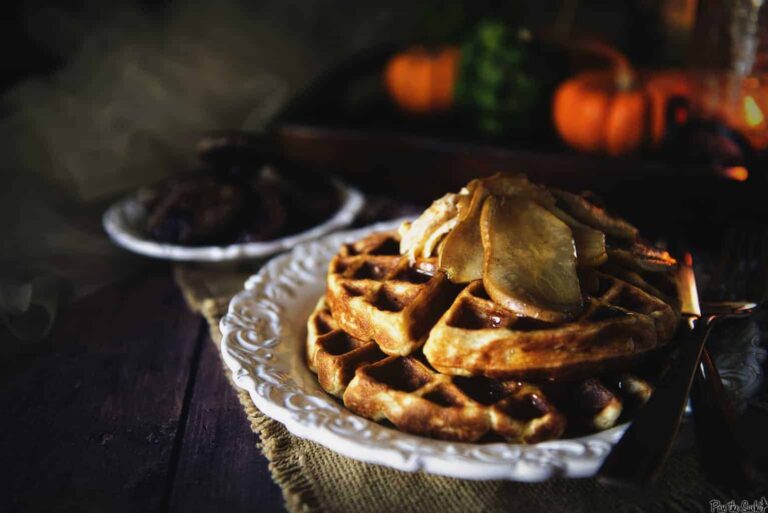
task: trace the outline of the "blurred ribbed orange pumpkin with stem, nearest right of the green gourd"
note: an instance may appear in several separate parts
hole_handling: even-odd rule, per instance
[[[658,147],[667,101],[688,96],[688,81],[678,72],[639,76],[621,54],[600,48],[613,69],[579,73],[555,92],[552,113],[560,137],[578,150],[616,156]]]

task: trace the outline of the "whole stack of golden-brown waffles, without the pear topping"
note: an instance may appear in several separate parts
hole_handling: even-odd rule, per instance
[[[607,429],[652,393],[648,356],[678,321],[668,283],[605,265],[568,323],[522,317],[482,280],[409,260],[396,232],[346,244],[308,321],[306,358],[351,411],[405,432],[534,443]],[[653,367],[653,366],[651,366]]]

